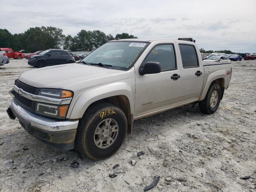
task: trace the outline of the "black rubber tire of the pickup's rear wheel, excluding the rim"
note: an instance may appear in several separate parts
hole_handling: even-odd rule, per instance
[[[218,94],[218,100],[216,102],[216,105],[214,107],[212,107],[210,105],[210,100],[211,100],[211,96],[212,96],[212,93],[216,91],[217,94]],[[205,114],[213,114],[214,112],[216,112],[216,110],[218,109],[219,107],[219,104],[220,104],[220,98],[221,98],[221,88],[220,88],[220,85],[219,84],[211,84],[210,85],[210,88],[208,89],[208,92],[204,98],[204,100],[198,102],[198,106],[199,106],[199,109],[202,113],[205,113]]]

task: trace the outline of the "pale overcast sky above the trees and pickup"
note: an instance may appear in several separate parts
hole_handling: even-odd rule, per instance
[[[12,34],[54,26],[72,36],[84,29],[149,39],[192,37],[205,50],[255,53],[255,8],[256,0],[0,0],[0,28]]]

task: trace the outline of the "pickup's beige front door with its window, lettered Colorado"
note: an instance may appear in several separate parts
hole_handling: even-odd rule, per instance
[[[156,44],[142,64],[146,62],[159,62],[161,72],[146,75],[136,72],[136,116],[174,106],[180,96],[180,68],[174,44]]]

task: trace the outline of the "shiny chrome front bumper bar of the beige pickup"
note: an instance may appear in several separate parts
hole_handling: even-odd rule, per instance
[[[74,130],[78,126],[78,120],[58,120],[54,118],[44,117],[35,113],[32,113],[12,100],[10,108],[14,115],[19,119],[22,118],[30,125],[40,130],[49,132],[60,132],[66,130]]]

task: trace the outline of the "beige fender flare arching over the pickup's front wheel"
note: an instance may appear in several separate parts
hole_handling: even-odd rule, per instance
[[[71,108],[68,110],[67,118],[80,119],[93,102],[117,95],[124,95],[128,98],[131,114],[133,114],[134,94],[132,87],[125,82],[116,82],[82,92],[75,101],[72,101],[74,104],[70,105]]]

